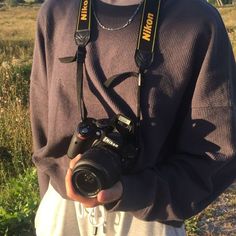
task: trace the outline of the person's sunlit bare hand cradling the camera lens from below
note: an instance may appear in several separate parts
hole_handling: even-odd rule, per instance
[[[66,178],[65,178],[67,196],[71,200],[81,202],[86,208],[95,207],[98,205],[103,205],[106,203],[111,203],[111,202],[115,202],[119,200],[123,193],[123,187],[120,181],[117,182],[111,188],[100,191],[97,197],[95,198],[85,198],[74,191],[72,182],[71,182],[72,170],[80,158],[81,158],[81,155],[78,155],[77,157],[75,157],[74,159],[70,161],[70,167],[67,171]]]

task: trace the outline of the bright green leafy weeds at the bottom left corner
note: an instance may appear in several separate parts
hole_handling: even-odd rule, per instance
[[[29,168],[23,175],[9,179],[1,189],[0,235],[34,235],[33,221],[39,202],[37,188],[36,171]]]

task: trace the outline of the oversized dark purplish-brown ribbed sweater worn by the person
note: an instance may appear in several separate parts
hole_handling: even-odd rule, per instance
[[[41,194],[48,182],[67,198],[64,177],[71,136],[80,122],[76,62],[79,0],[47,0],[38,15],[30,107]],[[123,25],[136,5],[93,1],[108,27]],[[136,117],[137,78],[114,88],[104,81],[138,71],[134,53],[141,12],[126,28],[92,21],[86,47],[84,100],[90,117]],[[236,66],[222,19],[205,0],[162,1],[154,63],[141,91],[140,153],[123,175],[122,198],[105,207],[145,221],[176,225],[210,204],[236,176]]]

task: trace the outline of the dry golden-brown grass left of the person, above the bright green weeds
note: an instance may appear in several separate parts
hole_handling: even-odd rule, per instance
[[[0,8],[0,184],[32,165],[28,97],[37,11]]]

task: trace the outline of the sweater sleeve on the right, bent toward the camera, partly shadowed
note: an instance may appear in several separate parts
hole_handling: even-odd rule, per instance
[[[203,210],[234,181],[236,66],[219,17],[194,80],[187,112],[169,134],[175,145],[156,166],[123,176],[123,197],[106,205],[108,210],[178,224]]]

